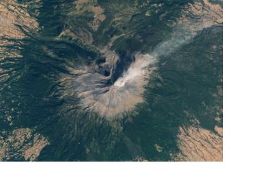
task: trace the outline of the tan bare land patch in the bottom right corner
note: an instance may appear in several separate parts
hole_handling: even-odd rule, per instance
[[[215,126],[212,132],[202,127],[180,127],[178,135],[177,155],[179,161],[217,161],[223,160],[223,131],[222,127]]]

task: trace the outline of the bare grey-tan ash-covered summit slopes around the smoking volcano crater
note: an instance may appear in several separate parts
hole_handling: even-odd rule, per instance
[[[97,73],[92,67],[84,66],[79,70],[71,70],[76,77],[69,81],[69,85],[74,86],[74,93],[80,99],[82,108],[92,109],[101,116],[110,117],[130,111],[136,104],[144,101],[141,95],[149,74],[154,69],[149,68],[149,65],[155,58],[149,54],[135,54],[135,60],[127,71],[114,84],[106,85],[112,78],[112,70],[119,56],[111,51],[105,51],[105,55],[106,62],[101,66],[111,70],[109,76]]]

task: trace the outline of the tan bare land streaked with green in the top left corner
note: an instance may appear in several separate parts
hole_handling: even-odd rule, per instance
[[[7,40],[23,39],[26,37],[24,32],[22,32],[17,25],[23,26],[24,30],[38,29],[39,24],[36,19],[29,15],[27,7],[27,5],[20,4],[15,0],[0,1],[0,59],[6,57],[21,57],[19,50],[9,47],[15,42]]]

